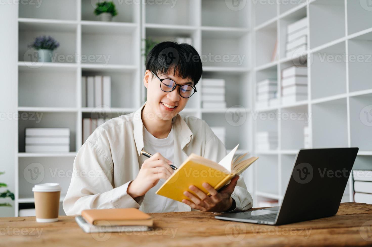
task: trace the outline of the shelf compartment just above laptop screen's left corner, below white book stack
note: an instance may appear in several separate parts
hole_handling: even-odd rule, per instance
[[[280,113],[281,148],[304,148],[304,127],[310,121],[307,105],[283,108]]]

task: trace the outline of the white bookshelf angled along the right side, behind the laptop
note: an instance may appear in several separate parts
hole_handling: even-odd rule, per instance
[[[278,1],[277,3],[281,3]],[[334,62],[323,59],[346,55],[370,55],[372,44],[372,11],[363,9],[359,1],[312,0],[298,4],[264,4],[253,6],[253,92],[260,80],[278,79],[281,95],[281,70],[300,65],[298,57],[286,57],[286,27],[308,17],[308,100],[291,105],[254,107],[265,114],[307,113],[310,121],[254,121],[253,132],[278,132],[278,149],[254,150],[260,156],[254,166],[254,201],[278,200],[282,203],[286,185],[298,149],[304,148],[303,127],[309,126],[312,148],[358,146],[354,169],[372,169],[371,126],[363,124],[360,112],[372,105],[370,62]],[[272,61],[278,40],[278,60]],[[368,57],[365,57],[367,59]],[[301,60],[302,62],[303,60]],[[368,67],[368,69],[367,69]],[[255,145],[253,145],[255,146]],[[342,201],[353,201],[349,179]],[[257,205],[257,204],[256,204]]]

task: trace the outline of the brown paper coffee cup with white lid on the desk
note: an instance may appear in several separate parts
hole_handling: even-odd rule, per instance
[[[58,221],[61,186],[57,183],[36,184],[32,188],[37,222]]]

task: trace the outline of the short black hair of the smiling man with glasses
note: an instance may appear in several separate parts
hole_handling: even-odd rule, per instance
[[[173,75],[192,80],[194,86],[203,73],[202,61],[195,48],[172,41],[155,45],[147,54],[145,65],[146,70],[151,70],[156,75],[167,75],[173,69]]]

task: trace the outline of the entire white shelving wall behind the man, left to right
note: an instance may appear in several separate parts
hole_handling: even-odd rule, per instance
[[[248,168],[244,179],[254,197],[273,199],[281,204],[295,156],[303,148],[303,127],[310,129],[313,148],[359,146],[356,169],[371,169],[371,127],[360,120],[360,111],[372,105],[372,72],[370,63],[323,61],[321,55],[371,54],[372,11],[359,1],[311,0],[298,4],[257,4],[233,11],[224,0],[183,0],[175,6],[166,4],[125,4],[114,1],[119,15],[113,22],[100,22],[93,14],[92,1],[58,0],[36,5],[18,6],[18,83],[19,113],[43,113],[41,122],[17,121],[17,151],[15,152],[15,215],[19,208],[32,203],[32,183],[23,171],[32,163],[45,170],[43,182],[62,184],[61,200],[67,192],[70,178],[56,176],[55,169],[72,170],[73,160],[82,145],[82,118],[99,113],[97,108],[81,107],[81,76],[110,75],[112,77],[111,116],[138,109],[145,100],[144,38],[157,41],[191,37],[200,55],[240,55],[237,62],[203,60],[203,78],[226,80],[227,108],[202,108],[202,79],[181,114],[204,119],[210,126],[227,129],[226,148],[240,143],[238,152],[249,151],[260,157]],[[293,3],[294,1],[289,1]],[[75,8],[71,8],[75,6]],[[72,10],[72,11],[71,11]],[[330,14],[331,13],[331,14]],[[290,105],[274,105],[263,109],[255,106],[256,82],[278,79],[280,97],[281,70],[298,64],[300,58],[285,57],[285,34],[288,24],[308,18],[308,100]],[[53,63],[33,63],[27,45],[38,35],[51,35],[61,46],[60,55],[107,55],[108,63],[72,60]],[[276,40],[278,59],[272,61]],[[135,83],[132,83],[135,82]],[[280,100],[280,98],[279,98]],[[233,126],[227,121],[229,112],[243,114],[243,124]],[[303,112],[312,114],[305,120],[264,120],[257,114]],[[227,113],[227,117],[225,114]],[[24,128],[68,127],[71,131],[68,153],[25,153]],[[277,131],[278,149],[256,150],[258,131]],[[50,172],[52,171],[52,172]],[[352,181],[343,201],[352,201]]]

